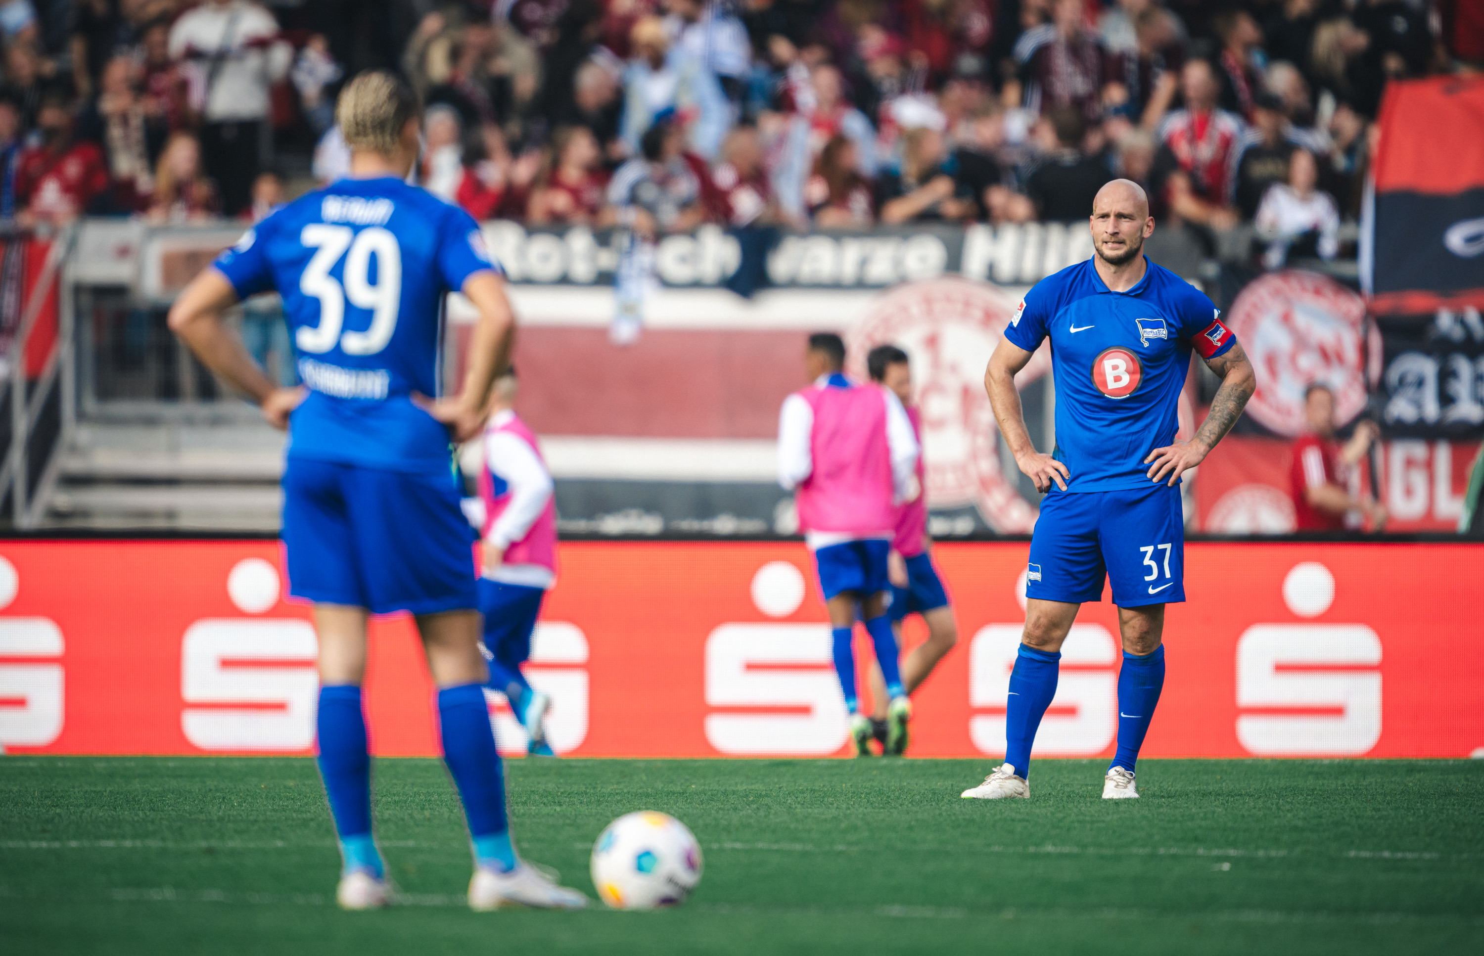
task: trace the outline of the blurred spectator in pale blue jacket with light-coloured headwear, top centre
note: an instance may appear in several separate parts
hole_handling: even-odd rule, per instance
[[[665,21],[646,16],[629,34],[634,56],[623,71],[623,141],[631,154],[654,120],[677,111],[689,123],[690,147],[705,159],[721,148],[732,107],[715,74],[699,59],[671,49]]]

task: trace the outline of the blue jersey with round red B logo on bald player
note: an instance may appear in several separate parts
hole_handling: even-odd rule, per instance
[[[1052,457],[1071,472],[1067,490],[1141,488],[1144,457],[1175,438],[1192,347],[1209,359],[1236,338],[1211,300],[1168,269],[1149,263],[1138,285],[1113,292],[1092,263],[1037,282],[1005,337],[1027,352],[1051,337]]]

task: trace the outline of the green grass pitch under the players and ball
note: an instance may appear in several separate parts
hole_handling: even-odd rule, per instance
[[[404,904],[334,906],[315,765],[0,757],[0,952],[1484,952],[1484,762],[1039,760],[1030,802],[960,800],[990,762],[515,760],[516,845],[592,894],[614,816],[666,811],[705,877],[671,911],[463,907],[442,766],[380,760]]]

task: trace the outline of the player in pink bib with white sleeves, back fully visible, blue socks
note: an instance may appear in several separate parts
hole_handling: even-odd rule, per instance
[[[856,693],[852,635],[858,615],[886,678],[887,751],[899,751],[913,705],[886,613],[886,557],[896,506],[919,494],[913,481],[917,439],[896,395],[844,377],[840,335],[810,335],[804,367],[813,384],[784,399],[779,413],[778,479],[797,490],[798,526],[815,554],[819,591],[830,610],[835,675],[850,713],[855,756],[868,756],[873,738]]]

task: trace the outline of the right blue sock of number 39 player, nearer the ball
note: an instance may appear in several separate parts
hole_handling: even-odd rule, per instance
[[[500,751],[494,748],[484,687],[459,684],[439,690],[438,720],[444,735],[444,763],[463,799],[475,861],[509,870],[515,865],[515,851],[505,816],[505,775]]]

